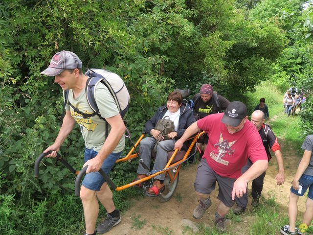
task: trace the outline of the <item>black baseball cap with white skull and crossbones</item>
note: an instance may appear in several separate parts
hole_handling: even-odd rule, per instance
[[[239,126],[240,122],[246,118],[246,105],[240,101],[233,101],[228,104],[222,122],[230,126]]]

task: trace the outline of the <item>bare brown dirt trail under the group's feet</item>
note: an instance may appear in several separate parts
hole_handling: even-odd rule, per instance
[[[282,208],[285,208],[282,213],[288,212],[288,202],[291,181],[301,156],[296,156],[295,151],[288,146],[284,140],[278,140],[285,162],[285,174],[286,180],[283,186],[277,186],[274,181],[277,174],[277,162],[273,156],[270,161],[269,168],[265,177],[265,183],[263,188],[263,196],[265,198],[274,197],[275,201],[279,203]],[[157,198],[139,198],[134,199],[134,206],[122,213],[122,221],[120,225],[114,227],[108,235],[183,235],[192,234],[186,233],[181,225],[182,219],[188,219],[195,223],[205,223],[208,226],[213,226],[214,213],[218,204],[217,190],[212,193],[212,207],[208,210],[207,214],[203,216],[201,220],[196,220],[192,217],[192,211],[198,205],[198,199],[193,187],[195,175],[197,171],[197,164],[190,164],[184,169],[180,170],[179,184],[176,188],[172,199],[166,203],[160,203]],[[248,188],[251,188],[249,185]],[[246,211],[251,210],[251,197],[249,191],[249,203]],[[299,212],[305,210],[305,197],[299,199]],[[242,221],[253,220],[253,213],[246,212],[242,217]],[[139,218],[140,216],[140,218]],[[137,219],[136,219],[137,218]],[[136,229],[135,221],[143,221],[143,227]],[[139,223],[140,224],[140,223]],[[241,234],[240,227],[232,228],[231,234]],[[133,228],[132,228],[133,227]],[[279,233],[278,233],[279,234]]]

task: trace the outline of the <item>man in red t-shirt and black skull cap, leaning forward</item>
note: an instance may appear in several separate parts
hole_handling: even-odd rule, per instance
[[[235,197],[242,197],[247,183],[268,168],[261,137],[247,118],[246,105],[231,102],[224,114],[212,114],[190,125],[175,143],[175,148],[180,149],[184,141],[201,129],[209,136],[194,183],[200,204],[193,211],[193,217],[201,219],[211,206],[210,194],[218,182],[220,203],[214,223],[220,231],[226,230],[225,215],[234,205]],[[241,168],[248,158],[253,164],[242,174]]]

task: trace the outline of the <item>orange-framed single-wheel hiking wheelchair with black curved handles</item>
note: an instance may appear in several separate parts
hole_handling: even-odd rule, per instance
[[[189,93],[188,93],[189,94]],[[198,133],[197,135],[189,138],[187,141],[185,141],[185,149],[178,151],[178,149],[175,149],[174,151],[168,152],[168,157],[167,157],[167,164],[165,165],[164,169],[159,169],[156,171],[149,171],[147,176],[143,179],[133,181],[129,184],[126,184],[124,186],[117,187],[114,182],[109,178],[109,176],[102,170],[99,170],[99,173],[102,175],[102,177],[105,179],[105,181],[108,183],[108,185],[116,191],[121,191],[126,188],[130,188],[133,186],[137,186],[139,184],[142,184],[143,190],[148,190],[153,184],[153,178],[156,175],[165,173],[165,179],[164,179],[164,185],[165,189],[162,191],[159,196],[157,196],[158,200],[160,202],[167,202],[171,199],[171,197],[174,194],[175,189],[177,188],[178,181],[179,181],[179,170],[181,168],[181,164],[185,163],[188,161],[188,159],[193,158],[194,155],[196,154],[197,148],[196,148],[196,143],[198,139],[205,134],[204,131],[201,133]],[[120,162],[126,162],[126,161],[132,161],[133,159],[139,157],[139,153],[136,150],[137,146],[139,145],[140,141],[144,138],[145,134],[142,134],[140,138],[136,141],[136,143],[133,143],[132,149],[128,152],[126,156],[123,158],[120,158],[116,161],[117,163]],[[128,136],[130,138],[130,133],[128,133]],[[199,150],[199,149],[198,149]],[[35,162],[35,177],[39,176],[39,165],[42,159],[49,155],[51,151],[47,153],[42,153],[36,160]],[[61,161],[73,174],[77,175],[76,180],[75,180],[75,195],[79,196],[80,195],[80,185],[83,176],[86,174],[86,170],[88,168],[88,165],[86,165],[82,170],[76,171],[73,169],[73,167],[67,163],[67,161],[59,154],[57,153],[57,160]],[[141,159],[140,159],[141,160]],[[139,160],[139,163],[140,163]],[[142,162],[142,160],[141,160]],[[143,163],[141,163],[143,164]],[[150,169],[149,169],[150,170]]]

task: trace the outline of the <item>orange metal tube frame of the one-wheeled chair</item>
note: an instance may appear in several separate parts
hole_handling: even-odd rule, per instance
[[[132,183],[129,183],[129,184],[127,184],[127,185],[124,185],[124,186],[121,186],[121,187],[117,187],[115,190],[116,190],[116,191],[121,191],[121,190],[123,190],[123,189],[125,189],[125,188],[130,188],[130,187],[132,187],[132,186],[134,186],[134,185],[137,185],[137,184],[140,184],[140,183],[142,183],[142,182],[145,182],[145,181],[147,181],[147,180],[149,180],[149,179],[155,177],[156,175],[162,174],[162,173],[164,173],[164,172],[168,173],[168,171],[169,171],[170,169],[167,169],[167,168],[178,166],[178,167],[177,167],[177,172],[175,173],[174,176],[172,176],[172,174],[169,174],[169,177],[170,177],[171,181],[173,182],[173,181],[176,179],[176,177],[178,176],[178,174],[179,174],[179,169],[180,169],[181,163],[184,162],[184,161],[187,159],[187,157],[189,156],[190,151],[192,150],[193,146],[195,145],[195,143],[198,141],[198,139],[199,139],[204,133],[205,133],[205,132],[202,131],[201,133],[198,133],[195,137],[190,138],[190,139],[193,139],[193,141],[191,142],[191,144],[190,144],[188,150],[186,151],[186,154],[184,155],[184,157],[183,157],[181,160],[179,160],[178,162],[175,162],[175,163],[172,164],[172,161],[173,161],[173,159],[175,158],[175,155],[176,155],[177,152],[178,152],[178,149],[175,149],[174,153],[172,154],[170,160],[167,162],[167,164],[165,165],[165,167],[164,167],[163,170],[158,171],[158,172],[156,172],[156,173],[154,173],[154,174],[152,174],[152,175],[149,175],[149,176],[147,176],[147,177],[145,177],[145,178],[143,178],[143,179],[136,180],[136,181],[134,181],[134,182],[132,182]],[[137,157],[137,153],[133,153],[133,152],[134,152],[134,149],[135,149],[135,147],[138,146],[138,144],[140,143],[140,141],[143,139],[144,136],[145,136],[145,135],[142,134],[142,135],[140,136],[140,138],[138,139],[138,141],[135,143],[134,147],[129,151],[129,153],[128,153],[124,158],[118,159],[118,160],[116,161],[116,163],[119,163],[119,162],[126,162],[126,161],[128,161],[128,160],[131,160],[131,159],[136,158],[136,157]],[[188,140],[190,140],[190,139],[188,139]]]

